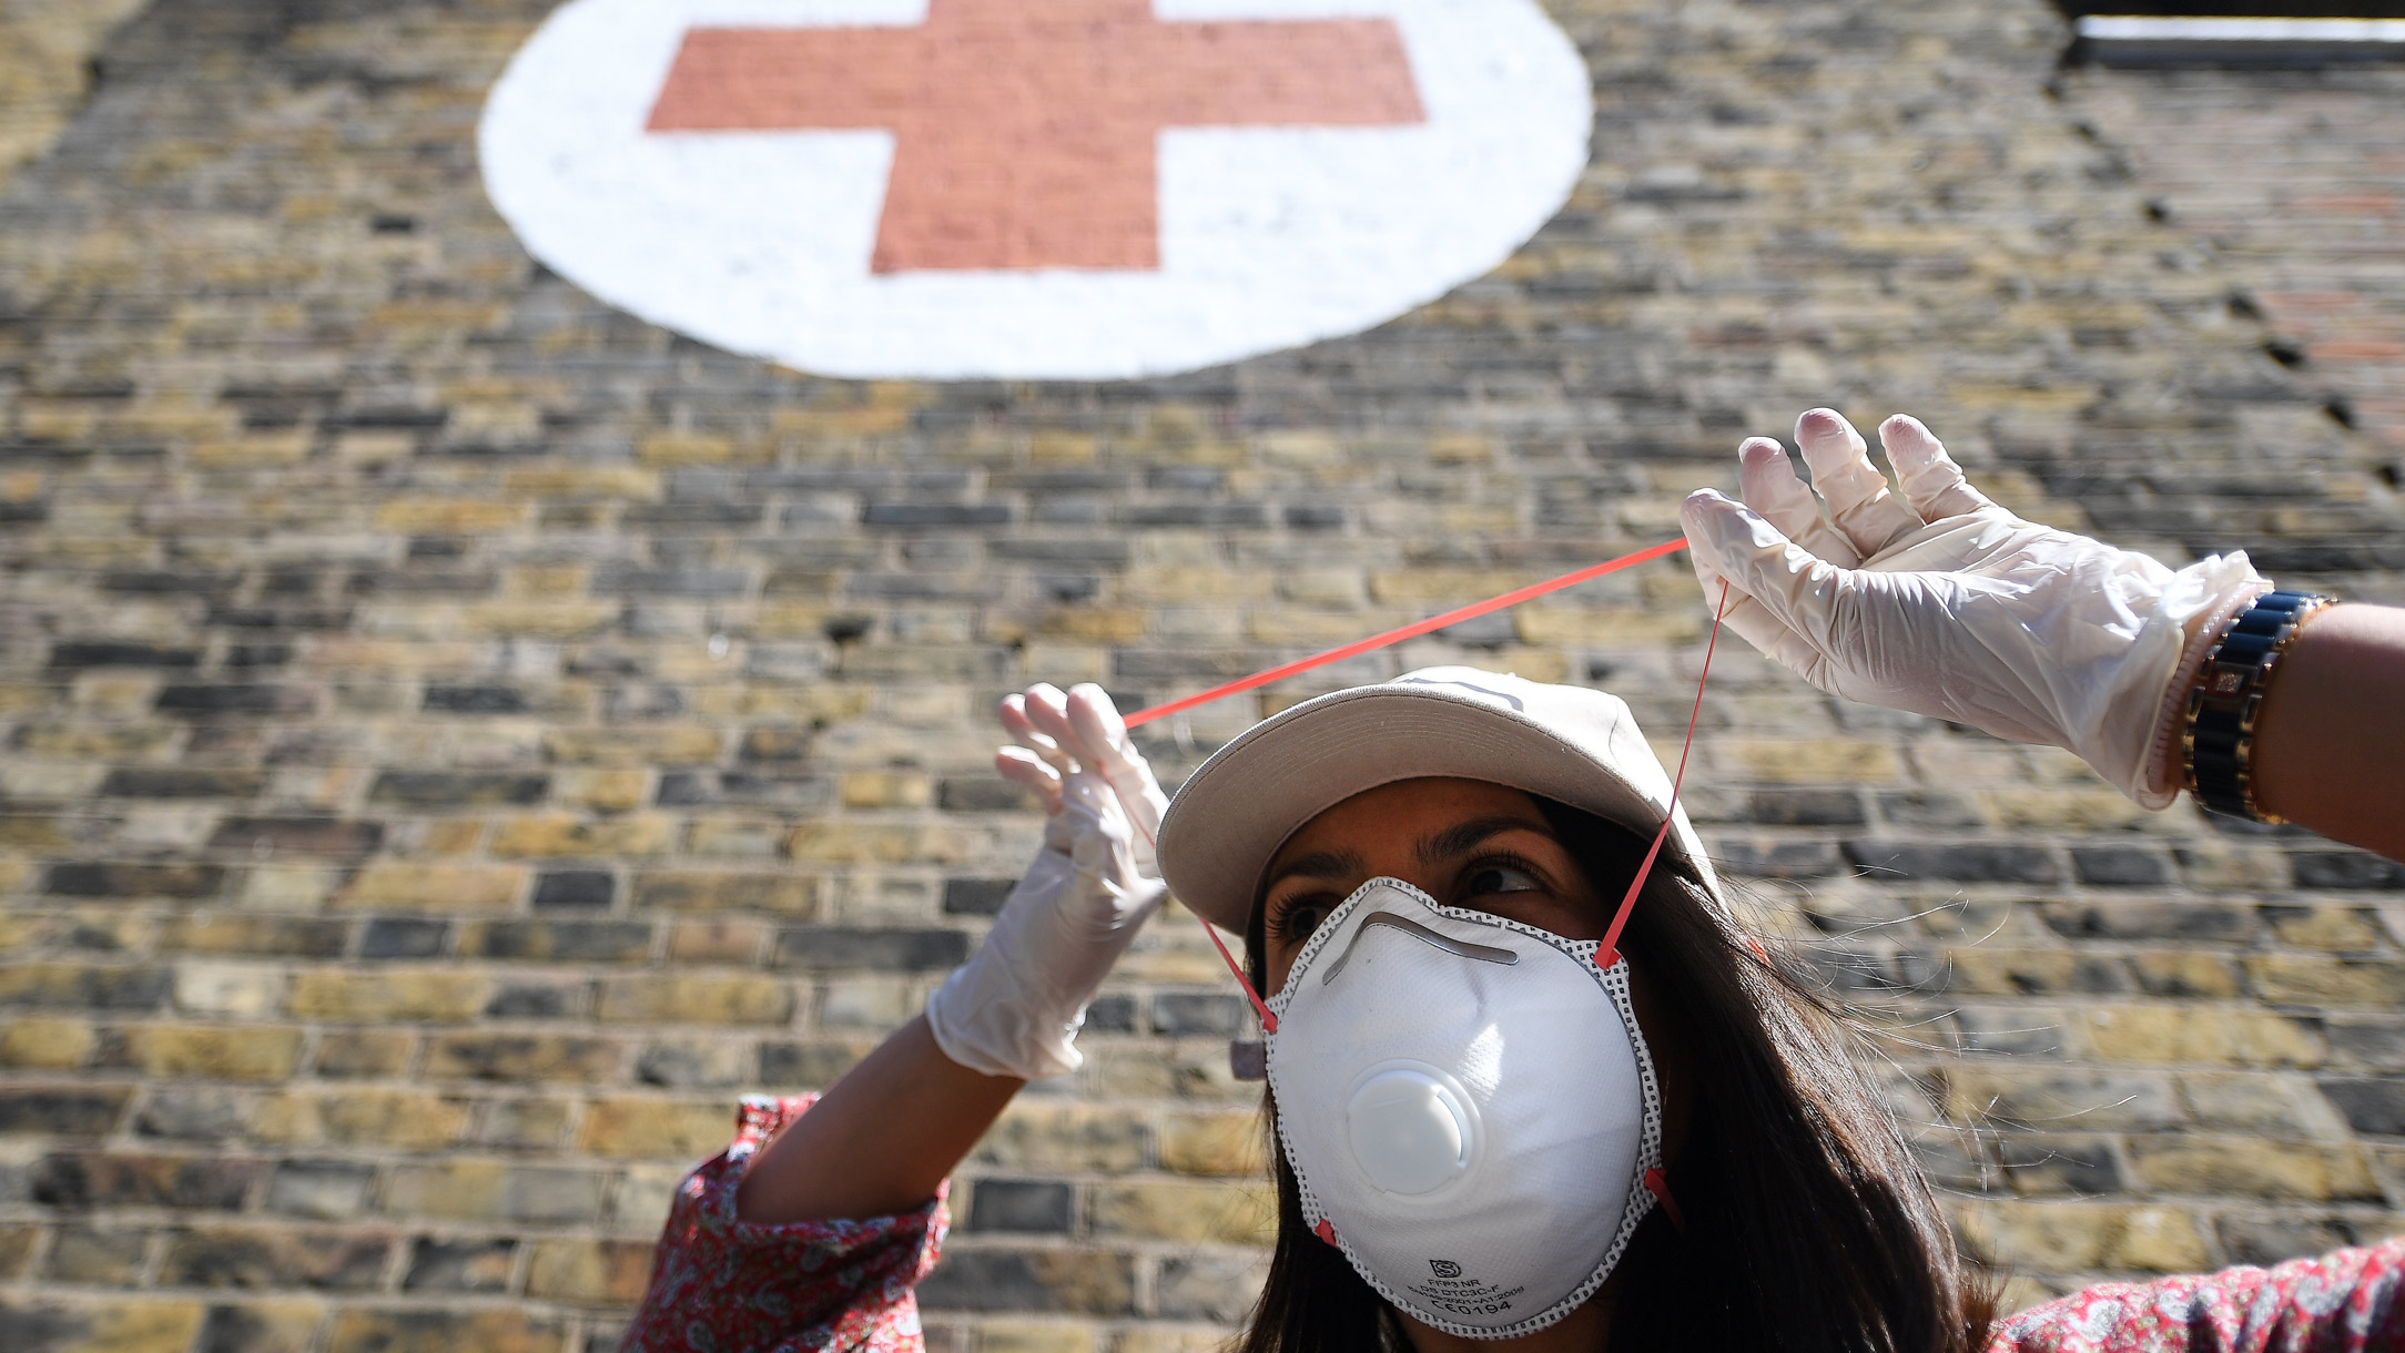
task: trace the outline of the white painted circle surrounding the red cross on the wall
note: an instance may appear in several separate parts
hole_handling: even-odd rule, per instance
[[[943,19],[996,2],[933,0]],[[1154,0],[1152,19],[1390,24],[1421,120],[1188,127],[1169,113],[1150,267],[878,272],[895,130],[649,123],[693,31],[914,29],[928,0],[570,0],[486,101],[483,180],[553,272],[729,351],[844,377],[1106,380],[1433,300],[1501,264],[1587,163],[1587,67],[1534,0]],[[777,120],[808,118],[755,118]]]

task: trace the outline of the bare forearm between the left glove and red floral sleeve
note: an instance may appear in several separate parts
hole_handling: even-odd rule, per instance
[[[926,1017],[911,1019],[760,1149],[736,1216],[774,1226],[909,1211],[1025,1084],[945,1057]]]

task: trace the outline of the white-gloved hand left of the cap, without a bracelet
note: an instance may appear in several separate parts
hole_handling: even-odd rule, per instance
[[[1044,848],[926,1021],[962,1067],[1034,1081],[1085,1062],[1085,1005],[1169,892],[1152,851],[1169,795],[1099,685],[1037,685],[1000,716],[1017,745],[993,767],[1044,800]]]

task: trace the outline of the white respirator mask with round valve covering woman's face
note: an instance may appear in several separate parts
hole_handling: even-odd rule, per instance
[[[1566,1317],[1664,1187],[1628,961],[1597,968],[1595,952],[1378,877],[1267,1002],[1304,1221],[1445,1334],[1513,1339]]]

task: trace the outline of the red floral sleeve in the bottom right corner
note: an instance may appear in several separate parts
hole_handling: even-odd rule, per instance
[[[1989,1353],[2395,1353],[2405,1235],[2273,1269],[2100,1283],[1996,1327]]]

